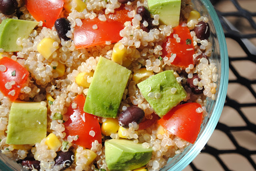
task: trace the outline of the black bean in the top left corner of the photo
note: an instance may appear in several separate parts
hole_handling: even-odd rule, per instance
[[[4,15],[13,14],[18,8],[17,0],[0,0],[0,12]]]

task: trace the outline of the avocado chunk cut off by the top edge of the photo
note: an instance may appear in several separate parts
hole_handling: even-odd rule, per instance
[[[159,15],[160,24],[179,25],[181,0],[148,0],[149,10]]]

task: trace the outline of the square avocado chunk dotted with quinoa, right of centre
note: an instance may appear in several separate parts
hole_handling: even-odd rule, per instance
[[[187,96],[173,72],[173,70],[160,72],[137,84],[144,98],[160,117],[163,117]],[[176,88],[175,93],[172,93],[172,88]]]

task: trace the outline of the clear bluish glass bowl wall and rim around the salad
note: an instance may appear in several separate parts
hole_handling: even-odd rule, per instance
[[[192,0],[192,2],[194,8],[200,12],[201,16],[209,18],[208,23],[211,30],[210,41],[214,50],[210,59],[216,63],[218,68],[216,99],[212,100],[208,98],[206,106],[208,116],[201,125],[197,141],[186,147],[182,153],[175,155],[174,158],[170,158],[167,165],[161,171],[181,171],[200,153],[218,123],[228,88],[228,51],[218,16],[209,0]],[[21,165],[8,159],[2,153],[0,153],[0,170],[26,171]]]

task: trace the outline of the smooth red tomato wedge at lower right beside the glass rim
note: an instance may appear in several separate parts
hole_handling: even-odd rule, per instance
[[[200,131],[202,112],[196,109],[202,107],[198,103],[184,103],[172,108],[158,123],[178,137],[194,143]]]

